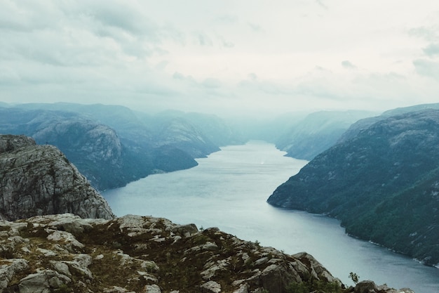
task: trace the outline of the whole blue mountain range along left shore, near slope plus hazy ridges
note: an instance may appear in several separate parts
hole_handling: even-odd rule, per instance
[[[56,145],[98,190],[191,168],[195,158],[220,145],[243,142],[212,115],[148,115],[123,106],[74,103],[0,107],[0,134],[25,134]]]

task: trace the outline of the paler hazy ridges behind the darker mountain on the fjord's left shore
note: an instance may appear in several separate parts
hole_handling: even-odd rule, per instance
[[[145,112],[133,111],[120,105],[81,105],[74,103],[22,104],[17,107],[26,110],[57,110],[76,112],[86,119],[105,124],[114,129],[125,145],[142,145],[150,148],[151,145],[166,145],[169,148],[184,148],[192,152],[194,158],[205,157],[211,152],[219,150],[219,146],[243,143],[241,136],[234,131],[224,120],[215,115],[205,115],[194,112],[165,111],[155,115]],[[176,129],[181,123],[180,134]],[[170,124],[173,124],[170,127]],[[175,131],[177,130],[177,131]],[[194,133],[189,133],[193,131]],[[161,138],[175,138],[167,142]],[[177,137],[180,137],[178,139]],[[192,138],[196,138],[192,141]]]

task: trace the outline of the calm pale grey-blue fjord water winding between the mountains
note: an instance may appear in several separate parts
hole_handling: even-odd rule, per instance
[[[148,176],[103,195],[117,216],[151,215],[218,227],[288,254],[309,252],[346,285],[353,285],[348,275],[354,272],[360,280],[397,289],[439,292],[439,269],[349,237],[336,219],[267,204],[273,190],[306,164],[283,155],[260,141],[227,146],[198,159],[198,167]]]

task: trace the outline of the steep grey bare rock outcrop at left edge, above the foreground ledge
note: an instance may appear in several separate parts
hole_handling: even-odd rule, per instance
[[[26,136],[0,136],[0,216],[15,220],[74,213],[112,219],[104,198],[53,145]]]

